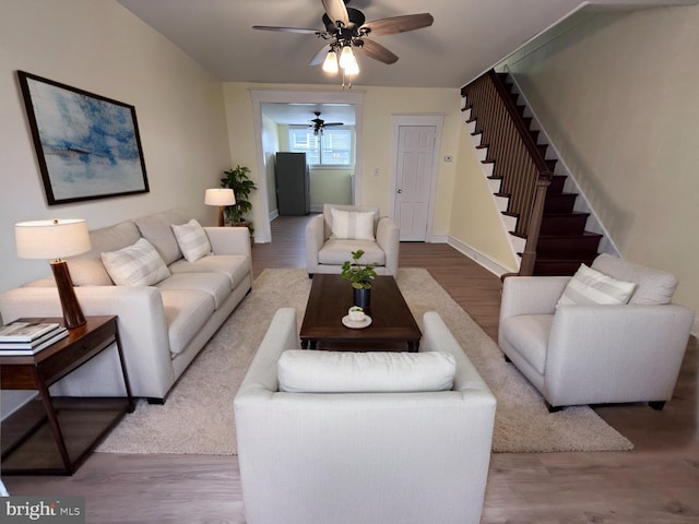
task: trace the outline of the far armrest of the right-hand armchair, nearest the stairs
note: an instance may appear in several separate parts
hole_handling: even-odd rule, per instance
[[[500,323],[518,314],[553,314],[569,276],[508,276],[502,283]]]

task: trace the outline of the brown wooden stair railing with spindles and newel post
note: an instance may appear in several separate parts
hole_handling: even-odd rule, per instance
[[[461,90],[476,121],[475,134],[495,162],[494,178],[509,196],[507,213],[517,216],[513,235],[525,238],[520,275],[533,274],[546,190],[553,174],[501,78],[490,70]]]

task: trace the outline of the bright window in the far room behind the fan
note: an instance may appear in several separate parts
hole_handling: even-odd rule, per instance
[[[288,128],[288,147],[306,153],[311,166],[352,166],[354,164],[354,130],[352,128],[325,128],[313,134],[307,127]]]

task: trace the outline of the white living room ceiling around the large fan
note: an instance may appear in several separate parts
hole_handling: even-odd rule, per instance
[[[320,0],[118,0],[226,82],[330,84],[308,66],[323,46],[315,35],[252,29],[323,29]],[[358,56],[358,85],[458,88],[580,9],[630,9],[695,0],[350,0],[367,21],[429,12],[430,27],[376,37],[396,53],[387,66]],[[309,111],[312,118],[312,111]]]

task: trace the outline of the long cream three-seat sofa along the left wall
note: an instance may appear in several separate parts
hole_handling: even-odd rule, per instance
[[[179,213],[168,211],[96,229],[90,234],[92,250],[68,262],[84,314],[119,317],[132,393],[150,402],[165,401],[177,379],[252,287],[247,228],[204,227],[211,252],[188,261],[171,227],[186,223]],[[121,252],[140,239],[155,248],[167,266],[158,278],[166,277],[152,285],[115,285],[102,253]],[[54,279],[35,281],[0,295],[0,314],[5,322],[21,317],[61,317]],[[117,352],[103,352],[55,384],[51,392],[122,395]]]

